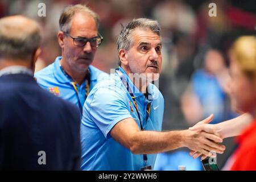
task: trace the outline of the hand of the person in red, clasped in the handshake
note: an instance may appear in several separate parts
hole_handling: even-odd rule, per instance
[[[196,125],[194,125],[193,127],[189,127],[189,130],[197,131],[197,132],[204,131],[206,133],[214,134],[221,138],[221,135],[218,133],[219,129],[217,128],[217,126],[208,124],[210,121],[212,121],[212,119],[213,119],[213,114],[211,114],[208,118],[204,119],[203,121],[196,123]],[[221,142],[222,142],[222,140],[221,140]],[[198,158],[202,154],[203,153],[195,151],[195,150],[191,150],[191,152],[189,152],[189,155],[193,156],[194,159]],[[207,156],[208,155],[203,154],[201,156],[201,160],[207,158]]]

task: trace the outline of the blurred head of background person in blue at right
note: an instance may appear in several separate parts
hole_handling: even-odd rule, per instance
[[[225,68],[224,57],[220,51],[210,49],[204,57],[204,68],[210,74],[216,74]]]

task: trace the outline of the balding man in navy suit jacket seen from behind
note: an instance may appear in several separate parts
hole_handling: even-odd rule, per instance
[[[79,110],[33,77],[40,40],[34,20],[0,19],[0,169],[79,170]]]

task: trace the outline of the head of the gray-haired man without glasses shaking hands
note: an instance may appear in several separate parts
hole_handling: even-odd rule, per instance
[[[160,73],[160,31],[158,22],[146,18],[133,19],[122,28],[117,40],[118,56],[119,65],[127,73]]]

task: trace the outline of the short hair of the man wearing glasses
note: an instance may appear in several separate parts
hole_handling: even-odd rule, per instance
[[[63,13],[60,15],[60,19],[59,19],[60,31],[67,32],[67,33],[70,31],[71,20],[72,20],[73,16],[79,11],[92,16],[92,18],[95,20],[96,26],[98,28],[98,26],[100,24],[98,15],[93,10],[91,10],[88,6],[78,4],[78,5],[69,5],[69,6],[65,7],[65,9],[63,10]]]

